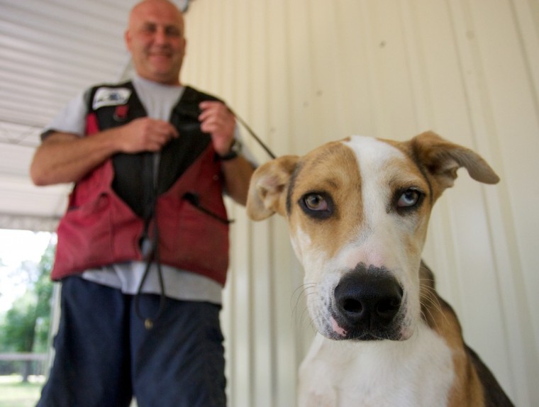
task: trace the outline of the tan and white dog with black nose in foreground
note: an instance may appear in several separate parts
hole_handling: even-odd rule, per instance
[[[286,218],[318,331],[300,407],[513,406],[421,260],[430,211],[460,167],[499,182],[482,157],[433,132],[352,136],[255,171],[248,216]]]

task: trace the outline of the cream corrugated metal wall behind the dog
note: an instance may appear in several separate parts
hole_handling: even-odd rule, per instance
[[[225,98],[277,155],[432,129],[491,163],[500,184],[462,172],[440,199],[425,258],[469,345],[517,406],[538,406],[539,2],[196,0],[187,35],[184,82]],[[231,209],[230,406],[294,406],[313,335],[302,271],[282,219]]]

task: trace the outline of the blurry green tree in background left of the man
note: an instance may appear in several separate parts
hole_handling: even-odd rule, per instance
[[[0,350],[3,352],[45,352],[50,327],[52,282],[50,270],[55,245],[49,244],[40,262],[23,262],[18,272],[25,274],[26,292],[13,302],[0,330]],[[31,362],[26,363],[23,381],[28,381]]]

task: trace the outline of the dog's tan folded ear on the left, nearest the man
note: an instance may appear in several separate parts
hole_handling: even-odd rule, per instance
[[[297,155],[284,155],[266,162],[252,174],[247,214],[253,221],[262,221],[275,212],[285,215],[288,184],[298,160]]]

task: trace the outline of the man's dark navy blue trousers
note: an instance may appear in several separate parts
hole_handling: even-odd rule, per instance
[[[140,294],[144,316],[160,297]],[[68,277],[55,361],[38,407],[226,406],[221,307],[167,299],[153,328],[135,313],[135,296]]]

